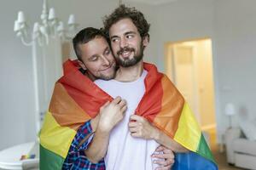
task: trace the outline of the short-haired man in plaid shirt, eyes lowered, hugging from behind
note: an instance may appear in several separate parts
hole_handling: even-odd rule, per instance
[[[96,79],[108,81],[115,76],[115,60],[102,31],[91,27],[79,31],[76,37],[73,38],[73,47],[79,59],[80,71],[85,76],[90,77],[91,81]],[[67,63],[70,64],[69,67],[73,66],[71,61],[67,61]],[[64,69],[65,67],[67,66],[64,65]],[[95,118],[79,127],[79,131],[73,139],[62,169],[104,169],[104,159],[102,158],[108,149],[109,134],[113,127],[123,120],[126,108],[125,99],[121,99],[119,95],[115,96],[112,102],[102,105],[99,114]],[[150,125],[148,127],[150,128],[147,129],[148,133],[155,132],[155,127]],[[87,144],[90,142],[90,140],[86,141],[87,137],[90,136],[90,133],[94,132],[93,142],[90,144],[89,149],[86,150]],[[91,135],[90,139],[92,137],[93,135]],[[154,147],[155,149],[156,147]],[[159,146],[156,151],[163,151],[165,153],[155,154],[159,158],[164,159],[155,163],[164,165],[163,168],[171,167],[173,163],[172,150]],[[132,157],[130,159],[133,160]]]

